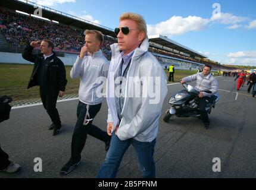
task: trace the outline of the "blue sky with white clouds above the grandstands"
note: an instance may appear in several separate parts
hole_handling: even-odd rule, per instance
[[[254,0],[30,1],[94,21],[111,29],[118,26],[118,17],[122,12],[136,12],[145,18],[149,35],[168,36],[221,64],[256,66]],[[213,8],[215,3],[218,5]]]

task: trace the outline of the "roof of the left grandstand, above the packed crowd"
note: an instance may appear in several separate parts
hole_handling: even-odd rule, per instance
[[[36,4],[35,2],[26,0],[1,0],[0,7],[15,9],[18,11],[26,12],[28,14],[34,14],[34,11],[37,8],[42,8],[43,18],[48,18],[49,20],[55,20],[59,23],[78,27],[79,29],[99,30],[103,34],[116,37],[113,29],[102,26],[100,24],[92,23],[90,21],[84,20],[83,18],[75,17],[65,12],[57,11],[55,9]]]

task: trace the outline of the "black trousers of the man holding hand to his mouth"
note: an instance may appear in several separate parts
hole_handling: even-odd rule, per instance
[[[85,147],[85,142],[87,138],[87,134],[91,135],[92,137],[98,138],[101,141],[107,142],[111,140],[111,136],[107,134],[106,131],[102,131],[95,125],[92,125],[92,121],[90,121],[87,125],[83,125],[83,121],[85,120],[86,116],[86,104],[79,101],[77,105],[77,122],[74,128],[73,136],[72,136],[72,143],[71,143],[71,160],[73,162],[79,162],[81,160],[81,153],[83,147]],[[95,118],[96,114],[101,109],[101,103],[98,105],[90,105],[89,106],[89,115],[90,118]]]

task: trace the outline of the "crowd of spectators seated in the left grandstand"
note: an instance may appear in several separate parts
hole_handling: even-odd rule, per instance
[[[51,21],[43,21],[28,15],[1,11],[0,30],[10,47],[23,48],[28,40],[49,39],[54,43],[56,52],[79,53],[85,44],[82,29],[61,26]],[[102,51],[108,59],[111,57],[110,45],[115,42],[111,37],[104,37]]]

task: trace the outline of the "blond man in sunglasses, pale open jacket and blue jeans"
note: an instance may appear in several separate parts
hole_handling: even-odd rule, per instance
[[[107,132],[112,138],[96,177],[115,178],[123,155],[132,144],[143,178],[155,178],[154,146],[167,94],[166,77],[157,59],[148,52],[146,23],[141,15],[122,14],[115,34],[118,43],[111,45],[107,79]],[[157,91],[156,102],[151,102],[147,93],[153,89]]]

